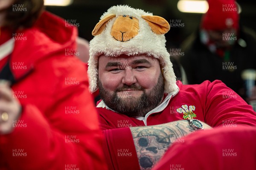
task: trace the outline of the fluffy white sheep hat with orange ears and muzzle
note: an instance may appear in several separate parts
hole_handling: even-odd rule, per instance
[[[88,61],[89,89],[98,89],[99,56],[118,57],[146,54],[160,61],[165,93],[175,95],[179,88],[165,47],[164,34],[170,29],[162,17],[129,6],[113,6],[105,12],[93,29]]]

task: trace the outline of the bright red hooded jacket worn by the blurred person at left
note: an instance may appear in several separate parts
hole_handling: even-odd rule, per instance
[[[3,68],[10,59],[13,97],[23,110],[14,131],[0,136],[0,169],[104,170],[86,67],[65,53],[76,49],[76,28],[44,12],[16,35],[12,54],[0,62]]]

